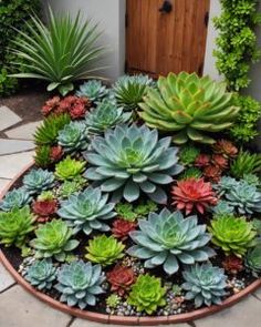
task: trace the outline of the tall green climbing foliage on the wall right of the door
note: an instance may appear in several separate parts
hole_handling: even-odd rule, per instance
[[[260,24],[258,0],[221,0],[221,16],[215,19],[218,29],[217,68],[232,91],[250,83],[250,64],[260,59],[254,29]]]

